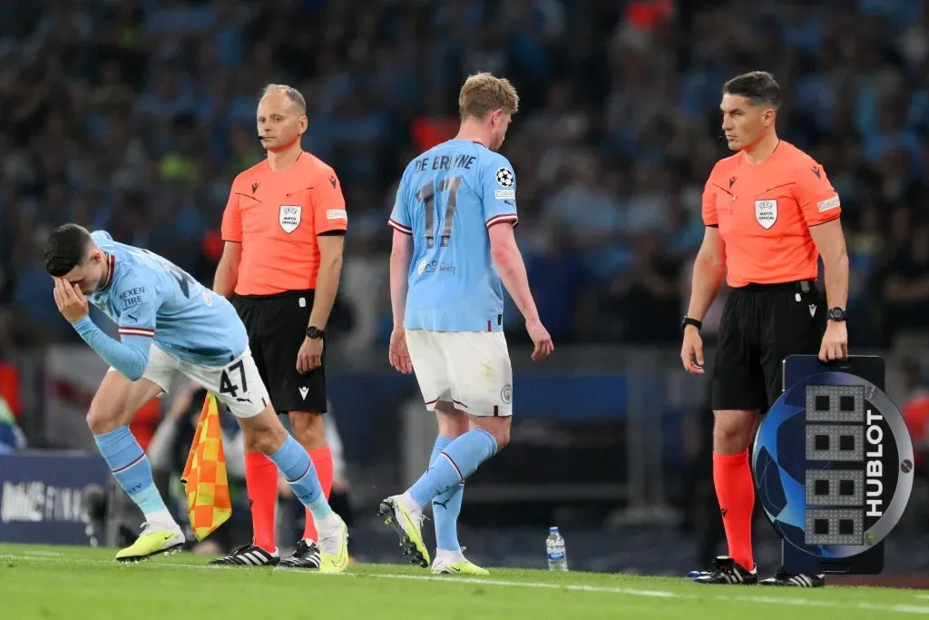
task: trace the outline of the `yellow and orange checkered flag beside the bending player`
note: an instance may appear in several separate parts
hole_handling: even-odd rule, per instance
[[[197,432],[180,480],[187,491],[190,527],[197,540],[203,540],[232,514],[219,407],[213,392],[207,392],[203,400]]]

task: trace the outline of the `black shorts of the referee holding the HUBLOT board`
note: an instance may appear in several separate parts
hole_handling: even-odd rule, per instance
[[[827,313],[810,280],[733,289],[713,363],[713,410],[765,413],[780,396],[784,358],[819,352]]]

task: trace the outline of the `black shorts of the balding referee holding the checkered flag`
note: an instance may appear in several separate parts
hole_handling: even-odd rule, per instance
[[[237,295],[232,305],[245,323],[258,374],[279,414],[326,411],[326,350],[322,365],[307,375],[296,370],[296,356],[307,337],[313,290],[277,295]]]

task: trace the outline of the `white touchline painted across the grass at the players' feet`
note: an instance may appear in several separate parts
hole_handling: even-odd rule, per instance
[[[71,564],[93,564],[93,565],[115,565],[116,562],[111,560],[90,560],[86,558],[68,558],[67,556],[55,557],[46,557],[41,555],[12,555],[12,554],[0,554],[0,561],[7,560],[25,560],[25,561],[61,561],[64,563]],[[157,561],[157,558],[153,558],[154,561],[141,562],[139,567],[142,568],[182,568],[182,569],[196,569],[196,570],[229,570],[229,571],[241,571],[242,567],[239,566],[210,566],[208,564],[183,564],[177,562],[167,562],[167,561]],[[124,566],[127,570],[131,570],[132,566],[135,564],[120,564]],[[638,589],[630,587],[608,587],[608,586],[581,586],[577,584],[545,584],[541,582],[531,582],[531,581],[505,581],[503,579],[483,579],[480,577],[461,577],[449,575],[445,576],[436,576],[436,575],[416,575],[416,574],[353,574],[353,573],[343,573],[343,574],[320,574],[315,571],[287,571],[287,573],[298,573],[306,575],[316,575],[321,577],[326,576],[340,576],[340,577],[356,577],[360,579],[364,578],[374,578],[374,579],[404,579],[408,581],[438,581],[444,584],[459,584],[459,585],[468,585],[468,586],[497,586],[497,587],[530,587],[530,588],[540,588],[540,589],[555,589],[555,590],[570,590],[575,592],[601,592],[607,594],[622,594],[626,596],[640,596],[640,597],[651,597],[651,598],[661,598],[661,599],[676,599],[676,600],[688,600],[688,599],[710,599],[710,600],[732,600],[738,602],[752,602],[752,603],[767,603],[774,605],[792,605],[795,607],[818,607],[818,608],[831,608],[831,609],[861,609],[869,610],[874,612],[884,612],[884,613],[914,613],[918,615],[929,615],[929,606],[927,605],[909,605],[909,604],[888,604],[888,605],[879,605],[876,603],[869,602],[840,602],[837,600],[818,600],[818,599],[800,599],[800,598],[780,598],[780,597],[766,597],[766,596],[725,596],[725,595],[712,595],[708,594],[707,596],[699,596],[696,594],[678,594],[676,592],[669,592],[667,590],[649,590],[649,589]],[[722,586],[721,586],[722,587]],[[707,586],[708,589],[713,588],[713,586]],[[916,595],[917,598],[927,599],[929,595]]]

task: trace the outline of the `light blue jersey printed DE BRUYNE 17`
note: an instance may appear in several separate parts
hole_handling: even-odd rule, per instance
[[[513,166],[471,140],[443,142],[407,165],[389,222],[413,240],[406,329],[503,330],[488,229],[516,226],[516,194]]]

